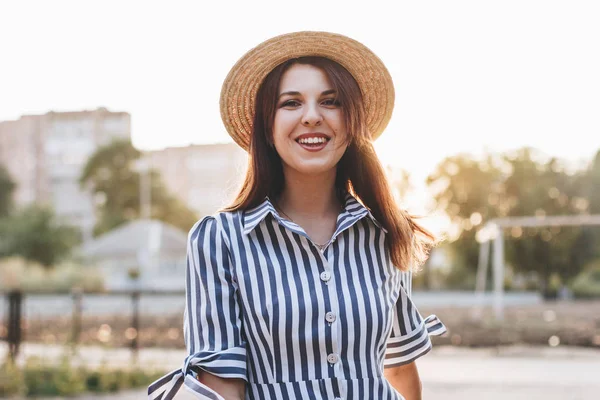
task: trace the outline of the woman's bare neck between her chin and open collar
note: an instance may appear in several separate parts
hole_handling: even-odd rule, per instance
[[[341,204],[335,188],[335,170],[320,175],[285,171],[285,187],[276,206],[291,218],[337,218]]]

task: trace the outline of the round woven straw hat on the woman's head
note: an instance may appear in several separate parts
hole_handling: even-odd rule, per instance
[[[352,74],[363,95],[373,139],[387,126],[394,108],[394,84],[383,62],[349,37],[329,32],[294,32],[276,36],[248,51],[223,82],[221,118],[229,135],[246,151],[250,148],[258,88],[279,64],[305,56],[329,58]]]

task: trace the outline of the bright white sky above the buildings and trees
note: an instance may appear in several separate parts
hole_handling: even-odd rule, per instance
[[[397,95],[377,150],[424,177],[444,156],[525,145],[600,149],[600,2],[2,1],[0,120],[99,106],[136,146],[229,141],[229,68],[277,34],[327,30],[370,47]]]

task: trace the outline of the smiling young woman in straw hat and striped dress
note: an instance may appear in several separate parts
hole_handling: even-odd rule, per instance
[[[202,399],[421,398],[445,332],[410,300],[432,236],[394,202],[372,141],[394,103],[362,44],[279,36],[229,73],[221,114],[249,151],[232,206],[190,231],[183,368],[149,387]]]

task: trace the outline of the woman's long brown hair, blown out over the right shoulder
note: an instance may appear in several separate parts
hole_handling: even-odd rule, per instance
[[[273,123],[281,77],[294,64],[323,70],[341,104],[348,148],[337,165],[335,185],[340,201],[345,193],[353,194],[387,230],[385,243],[392,263],[403,271],[416,269],[425,261],[434,237],[395,203],[367,129],[360,88],[344,67],[324,57],[288,60],[263,81],[256,95],[246,178],[233,204],[224,211],[256,207],[266,196],[277,199],[284,188],[281,159],[273,146]]]

